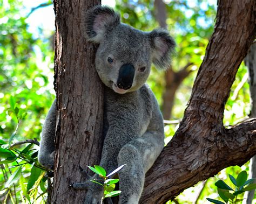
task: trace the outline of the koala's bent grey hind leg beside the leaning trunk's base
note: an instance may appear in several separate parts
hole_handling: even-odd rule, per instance
[[[157,137],[158,136],[158,137]],[[159,156],[164,144],[159,143],[156,132],[146,132],[132,140],[119,151],[118,166],[127,164],[120,170],[119,203],[136,204],[143,191],[145,173]]]

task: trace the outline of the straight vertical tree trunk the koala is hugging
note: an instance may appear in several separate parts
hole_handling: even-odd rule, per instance
[[[103,137],[103,85],[95,69],[96,47],[85,41],[85,12],[99,0],[55,0],[57,129],[52,203],[83,203],[79,166],[99,164]]]

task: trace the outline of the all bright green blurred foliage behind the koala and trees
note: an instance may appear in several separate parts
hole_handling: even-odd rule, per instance
[[[203,0],[165,0],[165,3],[168,29],[177,42],[173,69],[178,71],[188,62],[193,63],[193,72],[180,86],[173,108],[173,119],[181,119],[213,31],[216,3]],[[116,9],[121,13],[122,22],[136,29],[150,31],[158,27],[153,0],[118,0]],[[36,139],[39,140],[46,112],[55,93],[53,31],[49,35],[39,27],[37,33],[29,32],[27,14],[21,0],[0,1],[0,203],[44,203],[46,200],[46,170],[38,164],[38,146],[33,143],[15,145],[27,139],[35,143]],[[250,112],[246,78],[247,68],[242,64],[226,103],[226,126],[239,122]],[[162,103],[161,95],[165,86],[163,79],[164,72],[153,67],[148,83],[159,104]],[[165,126],[166,142],[177,128],[178,124]],[[248,171],[248,164],[242,168]],[[219,172],[216,178],[208,179],[207,185],[199,182],[186,189],[176,200],[179,203],[192,203],[201,192],[197,203],[205,203],[209,195],[215,195],[214,183],[218,179],[225,179],[227,174],[238,174],[239,171],[237,166],[228,167]]]

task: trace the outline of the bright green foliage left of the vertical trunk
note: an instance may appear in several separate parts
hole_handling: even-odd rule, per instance
[[[0,203],[44,203],[45,168],[37,161],[46,111],[53,100],[50,36],[28,31],[22,1],[0,1]],[[36,138],[36,139],[34,139]],[[24,141],[26,142],[26,141]]]

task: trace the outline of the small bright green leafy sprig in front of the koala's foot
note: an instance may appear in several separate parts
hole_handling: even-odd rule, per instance
[[[121,191],[114,191],[114,188],[116,188],[116,184],[119,181],[119,179],[109,179],[109,177],[111,175],[116,174],[119,170],[121,170],[126,164],[119,166],[116,170],[112,171],[111,173],[109,173],[108,175],[106,175],[106,170],[101,167],[101,166],[97,166],[95,165],[94,168],[91,166],[87,166],[88,168],[90,168],[90,170],[92,170],[93,172],[95,172],[96,174],[99,175],[100,178],[103,179],[103,184],[100,183],[100,181],[97,181],[96,179],[92,179],[92,182],[95,182],[96,184],[103,186],[104,188],[104,196],[102,197],[102,202],[105,198],[109,198],[109,197],[114,197],[114,196],[118,196]]]

